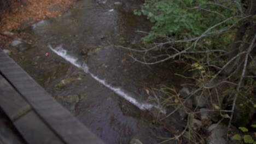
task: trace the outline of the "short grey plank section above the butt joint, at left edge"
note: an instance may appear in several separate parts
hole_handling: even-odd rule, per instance
[[[0,75],[0,106],[11,121],[15,121],[32,109],[2,75]]]

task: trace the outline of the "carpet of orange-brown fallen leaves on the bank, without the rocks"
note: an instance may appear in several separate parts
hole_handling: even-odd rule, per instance
[[[2,13],[0,32],[25,28],[38,21],[60,17],[75,0],[17,0],[10,1],[10,9]]]

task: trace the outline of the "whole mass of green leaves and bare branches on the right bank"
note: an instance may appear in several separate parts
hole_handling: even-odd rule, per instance
[[[256,44],[255,3],[255,0],[146,0],[142,9],[134,13],[146,15],[154,22],[152,31],[144,38],[145,42],[154,43],[146,49],[125,49],[136,53],[137,56],[131,55],[135,61],[147,65],[172,58],[185,59],[196,70],[193,76],[184,76],[194,81],[184,83],[193,87],[189,97],[196,93],[200,97],[205,95],[210,101],[208,107],[214,107],[214,111],[226,111],[232,106],[226,111],[230,113],[223,115],[220,112],[220,116],[229,118],[229,130],[231,123],[245,126],[251,122],[252,105],[256,107],[255,99],[251,98],[256,86],[255,53],[252,51]],[[137,58],[139,53],[143,58]],[[225,95],[223,89],[232,92]],[[189,98],[178,97],[174,102],[181,100],[184,100],[183,106]],[[188,113],[187,107],[183,107]],[[245,127],[240,130],[248,131]],[[245,143],[254,142],[249,135],[237,134],[233,138]]]

